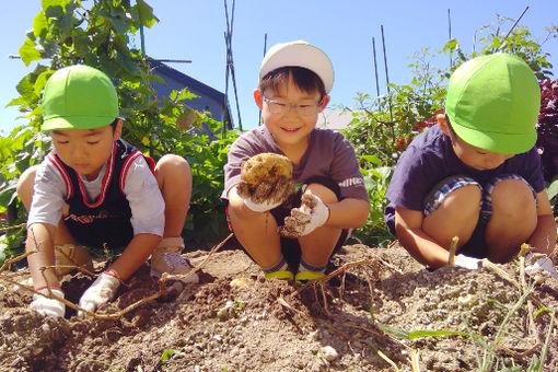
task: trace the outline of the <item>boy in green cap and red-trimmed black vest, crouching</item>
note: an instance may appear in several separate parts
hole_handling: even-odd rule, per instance
[[[88,66],[56,71],[45,85],[43,119],[53,151],[18,185],[28,210],[26,251],[35,290],[63,298],[59,276],[68,271],[65,266],[93,267],[84,246],[124,247],[81,297],[80,306],[91,312],[111,301],[150,255],[152,276],[189,272],[181,256],[189,165],[171,154],[155,165],[120,139],[123,119],[108,77]],[[66,310],[62,302],[38,294],[31,307],[53,316]]]

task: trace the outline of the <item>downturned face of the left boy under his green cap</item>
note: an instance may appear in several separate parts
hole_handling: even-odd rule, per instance
[[[53,130],[53,146],[62,162],[89,181],[97,177],[113,151],[113,142],[120,137],[123,121],[113,130],[111,125],[95,129]]]

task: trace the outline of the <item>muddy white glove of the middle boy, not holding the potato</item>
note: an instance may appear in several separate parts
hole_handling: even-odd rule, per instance
[[[319,197],[303,194],[300,208],[291,209],[291,216],[284,219],[279,234],[284,237],[300,237],[324,225],[329,219],[329,207]]]

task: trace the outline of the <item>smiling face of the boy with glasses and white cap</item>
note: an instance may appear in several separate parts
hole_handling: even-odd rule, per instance
[[[319,102],[319,93],[307,93],[301,91],[289,78],[288,82],[280,83],[277,91],[259,90],[254,91],[254,100],[261,109],[264,124],[269,129],[277,144],[286,151],[286,149],[305,150],[310,132],[314,129],[317,121],[317,115],[324,109],[329,102],[329,96],[325,95]],[[274,101],[271,103],[270,101]],[[276,111],[270,105],[287,106],[286,113],[275,114]],[[289,108],[289,105],[290,108]],[[316,112],[311,115],[301,115],[295,105],[316,106]]]

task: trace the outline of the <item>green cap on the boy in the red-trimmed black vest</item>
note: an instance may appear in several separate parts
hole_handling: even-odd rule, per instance
[[[48,79],[43,93],[43,130],[93,129],[118,117],[111,79],[89,66],[65,67]]]

